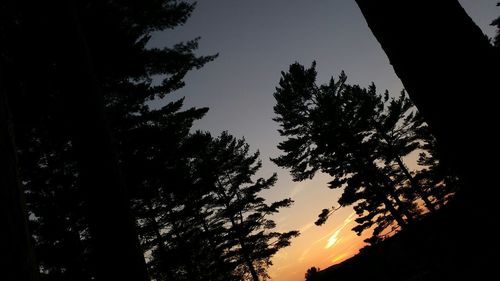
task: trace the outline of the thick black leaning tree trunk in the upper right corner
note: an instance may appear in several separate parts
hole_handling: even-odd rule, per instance
[[[491,205],[484,200],[495,196],[471,188],[498,186],[498,163],[486,163],[500,152],[493,129],[500,68],[487,37],[457,0],[356,2],[438,140],[444,160],[469,188],[472,197],[467,200],[478,201],[477,207]]]

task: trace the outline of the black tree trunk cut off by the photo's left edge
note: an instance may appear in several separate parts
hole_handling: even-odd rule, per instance
[[[0,279],[36,281],[38,268],[28,232],[3,66],[0,61]]]

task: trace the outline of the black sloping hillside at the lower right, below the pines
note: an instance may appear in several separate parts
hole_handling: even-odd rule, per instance
[[[453,202],[412,228],[321,270],[316,281],[491,280],[494,253],[476,224]],[[470,226],[470,227],[467,227]]]

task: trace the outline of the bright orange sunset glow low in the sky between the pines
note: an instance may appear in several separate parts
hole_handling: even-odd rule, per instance
[[[318,202],[317,197],[314,198],[315,200],[313,199],[314,201],[309,201],[307,196],[310,195],[310,192],[302,192],[302,190],[316,187],[324,188],[326,184],[318,184],[318,181],[326,183],[329,178],[324,176],[318,181],[315,180],[300,183],[292,188],[291,195],[294,195],[294,199],[300,197],[300,200],[296,200],[292,208],[300,210],[312,209],[312,206],[324,207],[335,200],[337,194],[334,194],[333,198],[326,197],[324,202]],[[291,246],[280,250],[273,257],[273,266],[269,268],[269,274],[273,281],[303,281],[307,269],[313,266],[326,269],[356,255],[359,249],[365,245],[363,240],[367,235],[357,236],[351,230],[355,225],[354,219],[356,218],[352,208],[342,208],[335,212],[323,226],[314,224],[316,215],[311,217],[310,212],[308,217],[302,217],[301,213],[293,212],[291,214],[293,210],[290,210],[289,214],[287,211],[283,210],[276,218],[280,228],[282,228],[280,230],[297,229],[300,230],[301,234],[292,240]],[[318,208],[317,212],[313,213],[319,214],[320,211],[321,208]]]

